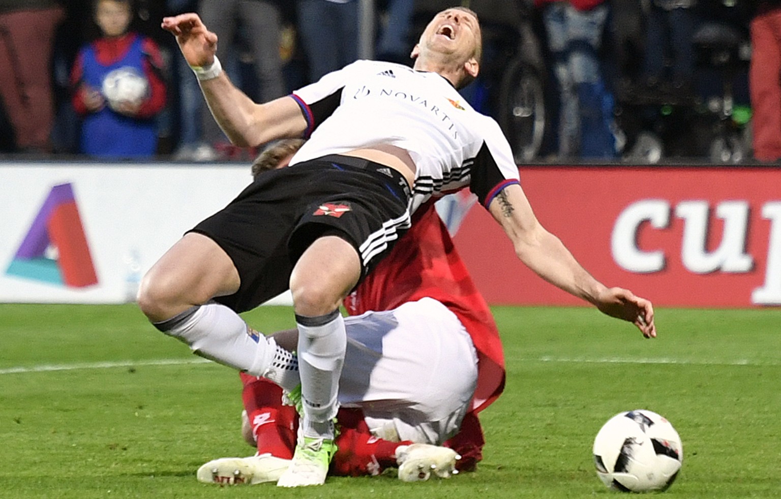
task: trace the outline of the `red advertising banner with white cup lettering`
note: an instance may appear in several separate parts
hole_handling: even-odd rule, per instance
[[[543,224],[598,280],[682,307],[781,305],[781,169],[522,167]],[[490,304],[583,305],[475,206],[455,243]]]

